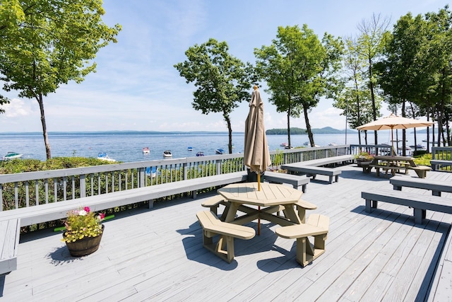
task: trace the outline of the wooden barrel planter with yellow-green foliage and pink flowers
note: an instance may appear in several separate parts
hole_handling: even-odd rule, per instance
[[[100,245],[100,239],[105,226],[102,220],[104,213],[95,214],[89,207],[69,211],[64,226],[61,241],[66,243],[72,256],[80,257],[95,252]]]

